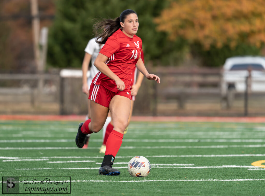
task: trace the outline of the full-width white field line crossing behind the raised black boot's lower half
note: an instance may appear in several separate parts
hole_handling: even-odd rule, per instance
[[[123,139],[123,142],[265,142],[265,139]],[[74,139],[19,139],[0,140],[0,143],[52,143],[52,142],[74,142]],[[102,142],[102,139],[91,139],[89,142]]]

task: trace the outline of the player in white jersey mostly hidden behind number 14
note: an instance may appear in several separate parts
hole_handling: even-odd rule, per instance
[[[101,50],[101,48],[104,46],[104,44],[98,44],[95,41],[95,38],[92,38],[91,40],[89,40],[86,48],[85,48],[85,56],[83,59],[83,63],[82,63],[82,73],[83,73],[83,77],[82,77],[82,82],[83,82],[83,86],[82,86],[82,91],[83,93],[85,93],[87,96],[89,96],[89,88],[90,88],[90,84],[92,83],[92,79],[94,78],[94,76],[98,73],[98,69],[94,66],[94,61],[96,59],[96,57],[99,54],[99,51]],[[91,67],[89,67],[90,64],[90,60],[91,60]],[[90,75],[87,78],[87,71],[90,68]],[[88,108],[87,108],[87,116],[86,116],[86,120],[90,119],[90,103],[89,103],[89,99],[88,100]],[[107,125],[109,124],[109,122],[111,121],[111,117],[109,116],[106,120],[106,123],[103,127],[103,139],[105,136],[105,131],[107,128]],[[85,141],[85,145],[83,148],[87,148],[88,142],[89,142],[89,137],[90,134],[86,136],[86,141]]]

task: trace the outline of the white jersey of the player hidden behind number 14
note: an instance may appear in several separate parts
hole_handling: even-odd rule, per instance
[[[96,57],[99,54],[99,51],[101,50],[101,48],[104,46],[104,44],[98,44],[95,41],[95,38],[92,38],[91,40],[89,40],[86,48],[85,48],[85,52],[87,52],[88,54],[92,55],[91,56],[91,68],[90,68],[90,76],[89,79],[92,80],[94,78],[94,76],[98,73],[98,69],[94,66],[94,61],[96,59]]]

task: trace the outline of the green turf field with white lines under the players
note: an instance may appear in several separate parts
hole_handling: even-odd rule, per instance
[[[131,122],[113,165],[120,176],[98,175],[102,133],[79,149],[78,123],[0,121],[1,178],[70,177],[72,195],[265,195],[265,123]],[[127,172],[136,155],[151,163],[146,178]],[[28,193],[26,186],[46,187],[20,182],[19,193]]]

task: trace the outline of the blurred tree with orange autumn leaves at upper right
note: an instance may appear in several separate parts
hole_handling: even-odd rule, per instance
[[[265,43],[264,0],[180,0],[155,19],[158,31],[170,40],[183,37],[199,42],[207,50],[211,46],[231,49],[238,43],[260,48]]]

